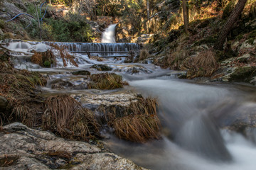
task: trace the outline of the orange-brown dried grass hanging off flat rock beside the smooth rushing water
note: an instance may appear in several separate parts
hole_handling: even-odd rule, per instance
[[[114,128],[120,139],[132,142],[146,142],[159,139],[160,120],[156,115],[155,98],[138,98],[131,102],[127,108],[110,106],[100,107],[105,115],[107,124]]]

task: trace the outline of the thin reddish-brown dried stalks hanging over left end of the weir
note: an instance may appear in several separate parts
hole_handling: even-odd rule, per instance
[[[68,64],[67,62],[70,62],[73,64],[75,67],[78,67],[78,63],[75,62],[75,57],[73,55],[70,55],[68,52],[68,47],[65,45],[56,45],[54,43],[50,43],[50,46],[54,47],[56,50],[58,50],[60,57],[63,60],[63,66],[67,67]]]

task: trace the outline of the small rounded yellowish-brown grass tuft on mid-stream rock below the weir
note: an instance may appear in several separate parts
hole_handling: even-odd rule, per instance
[[[90,80],[92,82],[87,85],[88,89],[118,89],[124,85],[122,76],[114,73],[92,74]]]

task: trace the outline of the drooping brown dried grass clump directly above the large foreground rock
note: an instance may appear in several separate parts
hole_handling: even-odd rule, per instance
[[[43,128],[61,137],[87,140],[99,131],[92,111],[68,95],[47,98],[45,108]]]

